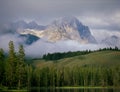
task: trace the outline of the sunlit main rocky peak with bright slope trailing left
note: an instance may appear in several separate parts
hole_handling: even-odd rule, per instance
[[[31,34],[49,42],[76,40],[80,43],[96,43],[89,28],[75,17],[57,19],[44,30],[24,29],[21,34]]]

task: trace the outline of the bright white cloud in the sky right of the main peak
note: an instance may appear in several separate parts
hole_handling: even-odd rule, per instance
[[[92,14],[85,16],[78,16],[83,24],[89,26],[91,29],[120,31],[120,12],[115,11],[111,14]]]

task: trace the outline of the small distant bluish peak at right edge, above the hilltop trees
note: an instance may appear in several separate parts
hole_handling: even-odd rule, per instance
[[[120,37],[117,37],[115,35],[105,38],[101,41],[102,44],[108,45],[108,46],[117,46],[120,47]]]

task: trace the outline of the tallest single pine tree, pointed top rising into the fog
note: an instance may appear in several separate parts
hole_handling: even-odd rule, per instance
[[[16,54],[14,50],[13,41],[9,42],[9,53],[8,60],[6,62],[5,74],[6,74],[6,85],[13,87],[16,85]]]

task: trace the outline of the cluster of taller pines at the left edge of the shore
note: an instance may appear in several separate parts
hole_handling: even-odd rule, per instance
[[[0,49],[0,87],[18,89],[26,87],[28,69],[22,45],[19,46],[19,51],[15,52],[13,41],[10,41],[8,56],[5,56],[3,49]]]

